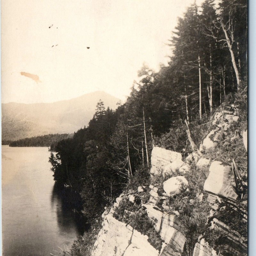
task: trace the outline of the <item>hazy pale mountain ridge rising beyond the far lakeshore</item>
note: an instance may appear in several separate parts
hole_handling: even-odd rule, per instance
[[[49,133],[74,133],[87,126],[96,105],[116,109],[120,100],[102,91],[53,103],[2,103],[2,140],[19,140]]]

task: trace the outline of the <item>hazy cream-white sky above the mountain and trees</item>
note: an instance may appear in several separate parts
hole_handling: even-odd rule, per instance
[[[177,17],[193,3],[2,0],[2,102],[53,102],[96,90],[124,100],[143,62],[156,71],[167,64]]]

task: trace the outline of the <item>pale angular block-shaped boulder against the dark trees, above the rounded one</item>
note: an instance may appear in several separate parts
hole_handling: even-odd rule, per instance
[[[151,153],[151,175],[156,175],[164,170],[164,167],[175,161],[181,161],[180,153],[164,148],[154,147]]]

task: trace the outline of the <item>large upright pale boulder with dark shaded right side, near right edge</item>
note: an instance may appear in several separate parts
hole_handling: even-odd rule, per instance
[[[223,165],[219,161],[212,162],[209,176],[204,182],[204,190],[212,194],[236,200],[234,187],[235,177],[231,166]]]

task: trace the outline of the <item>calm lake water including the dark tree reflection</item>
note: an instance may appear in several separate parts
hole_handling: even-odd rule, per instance
[[[83,230],[48,162],[48,148],[2,146],[3,255],[59,255]],[[61,250],[62,249],[62,250]]]

